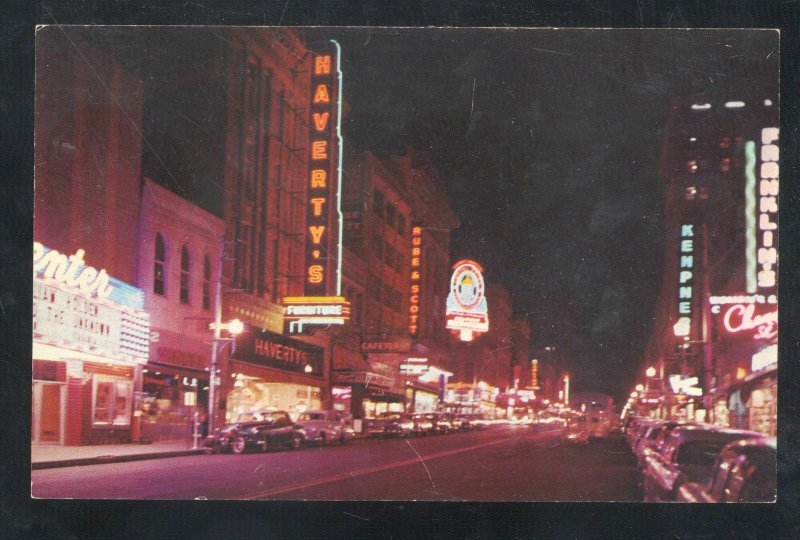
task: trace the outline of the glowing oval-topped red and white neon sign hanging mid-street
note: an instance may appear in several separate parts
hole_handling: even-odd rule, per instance
[[[461,341],[472,341],[476,332],[489,330],[483,268],[467,259],[453,265],[447,295],[447,328],[459,332]]]

